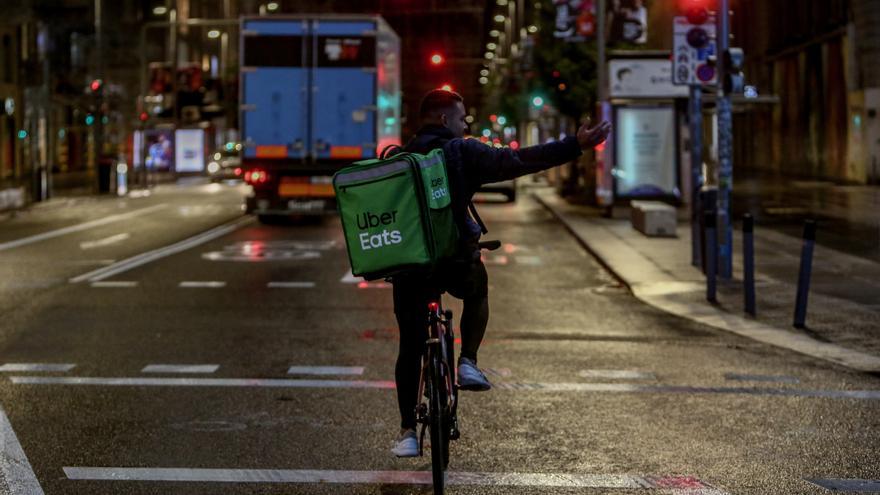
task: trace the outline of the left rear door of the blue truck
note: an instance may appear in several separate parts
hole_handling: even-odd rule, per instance
[[[308,24],[245,21],[242,130],[245,158],[303,158],[308,135]]]

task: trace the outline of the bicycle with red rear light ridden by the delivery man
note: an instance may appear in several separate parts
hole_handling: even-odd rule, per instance
[[[500,241],[479,243],[480,249],[494,251]],[[424,455],[425,430],[431,438],[431,471],[434,494],[442,495],[449,465],[449,442],[458,440],[458,383],[455,363],[455,332],[452,311],[441,305],[442,292],[428,303],[427,350],[422,356],[419,377],[420,398],[416,405],[416,421],[422,425],[419,434],[419,456]],[[427,402],[426,400],[427,399]]]

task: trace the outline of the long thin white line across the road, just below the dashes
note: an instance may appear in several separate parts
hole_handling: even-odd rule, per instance
[[[11,376],[16,385],[97,385],[146,387],[281,387],[281,388],[377,388],[393,389],[393,381],[300,380],[283,378],[103,378],[60,376]],[[689,387],[632,383],[523,383],[497,382],[499,390],[535,392],[608,392],[645,394],[731,394],[825,399],[880,400],[880,390],[798,390],[748,387]]]

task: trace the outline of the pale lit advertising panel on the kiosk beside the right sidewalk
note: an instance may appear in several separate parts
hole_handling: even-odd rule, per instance
[[[680,197],[673,107],[619,107],[614,135],[617,197]]]

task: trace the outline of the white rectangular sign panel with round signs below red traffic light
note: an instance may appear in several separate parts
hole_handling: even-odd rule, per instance
[[[685,16],[673,18],[672,83],[715,84],[715,17],[691,24]]]

